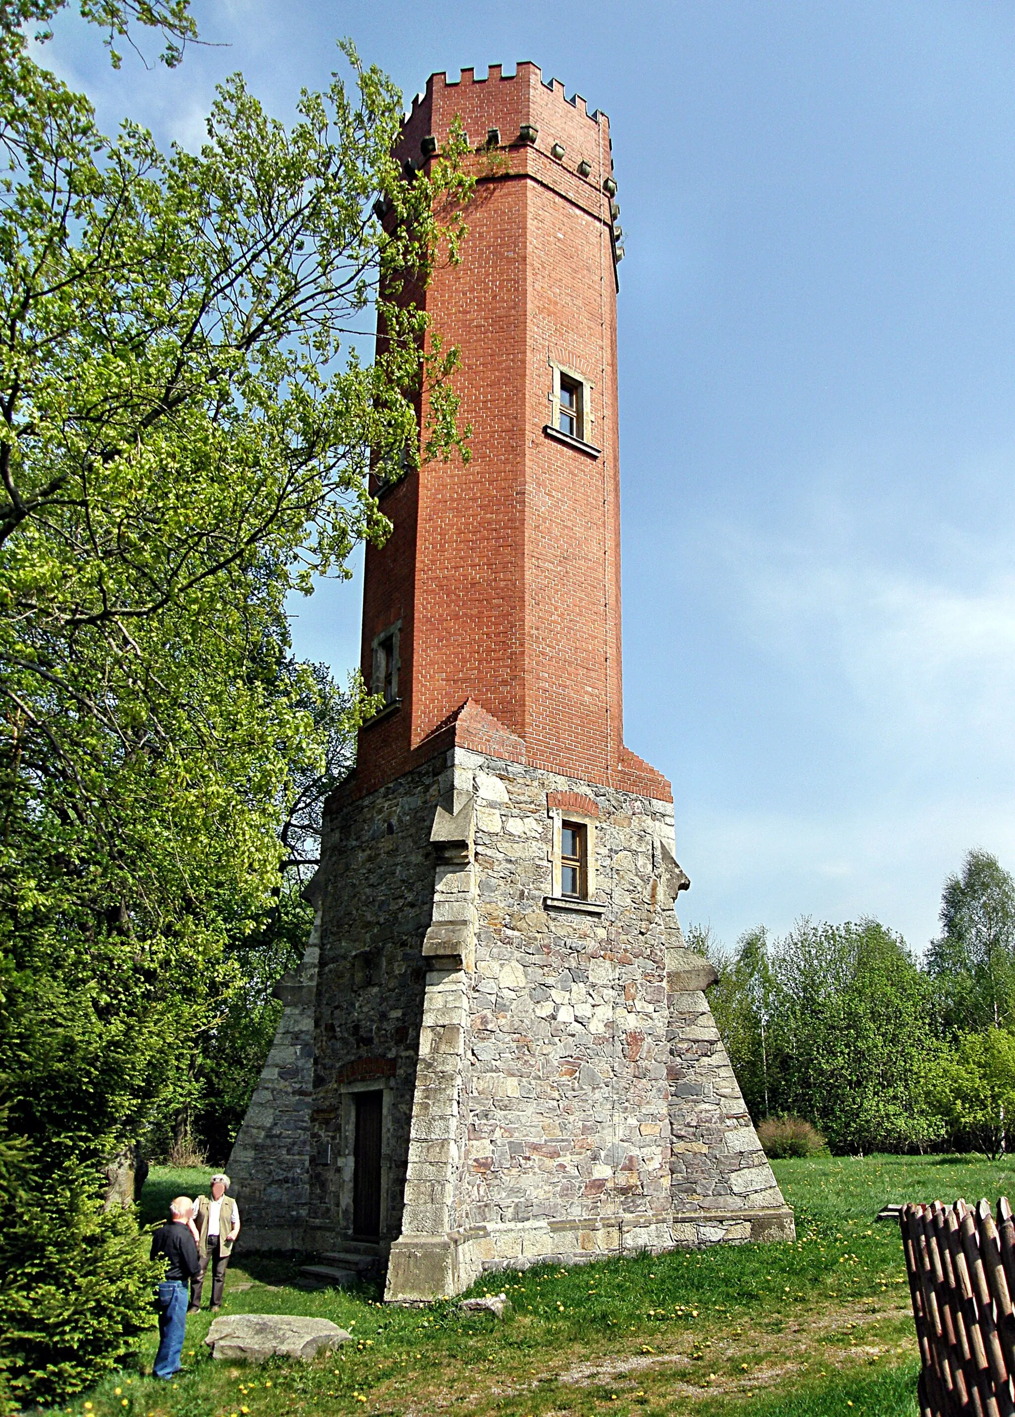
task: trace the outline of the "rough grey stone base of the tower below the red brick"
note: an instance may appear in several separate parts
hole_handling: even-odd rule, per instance
[[[587,900],[561,891],[565,820]],[[671,803],[459,741],[337,805],[319,881],[293,1247],[389,1251],[386,1298],[423,1302],[486,1270],[793,1238],[677,921]],[[259,1159],[251,1118],[234,1159],[245,1237],[268,1101]]]

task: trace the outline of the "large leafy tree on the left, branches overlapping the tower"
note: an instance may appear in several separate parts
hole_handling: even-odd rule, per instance
[[[95,1176],[193,1097],[194,1040],[245,988],[232,947],[328,775],[330,690],[292,657],[286,599],[384,536],[371,466],[412,463],[420,422],[425,456],[459,442],[454,359],[411,293],[454,259],[469,188],[454,152],[402,171],[401,95],[348,45],[351,92],[304,92],[289,129],[234,77],[197,154],[106,139],[28,50],[61,3],[0,6],[0,1078],[24,1138],[0,1230],[45,1196],[44,1233],[62,1204],[101,1274],[95,1246],[129,1237]],[[193,35],[184,0],[82,11],[110,45],[161,28],[170,62]],[[81,1318],[76,1263],[55,1282]],[[0,1369],[74,1390],[139,1294],[91,1346],[67,1318],[88,1357],[54,1366],[59,1325],[4,1277]]]

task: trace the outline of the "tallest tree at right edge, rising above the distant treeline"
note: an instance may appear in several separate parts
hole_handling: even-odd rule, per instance
[[[1015,1026],[1015,880],[990,852],[970,852],[941,894],[941,934],[927,951],[944,1032]]]

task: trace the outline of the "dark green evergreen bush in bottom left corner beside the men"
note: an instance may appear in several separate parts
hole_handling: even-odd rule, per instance
[[[115,1367],[154,1322],[159,1268],[93,1176],[23,1155],[0,1178],[0,1403],[50,1403]]]

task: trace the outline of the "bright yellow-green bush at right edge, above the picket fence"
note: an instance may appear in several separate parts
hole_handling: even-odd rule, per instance
[[[937,1054],[927,1095],[954,1144],[998,1156],[1015,1131],[1015,1034],[960,1033]]]

